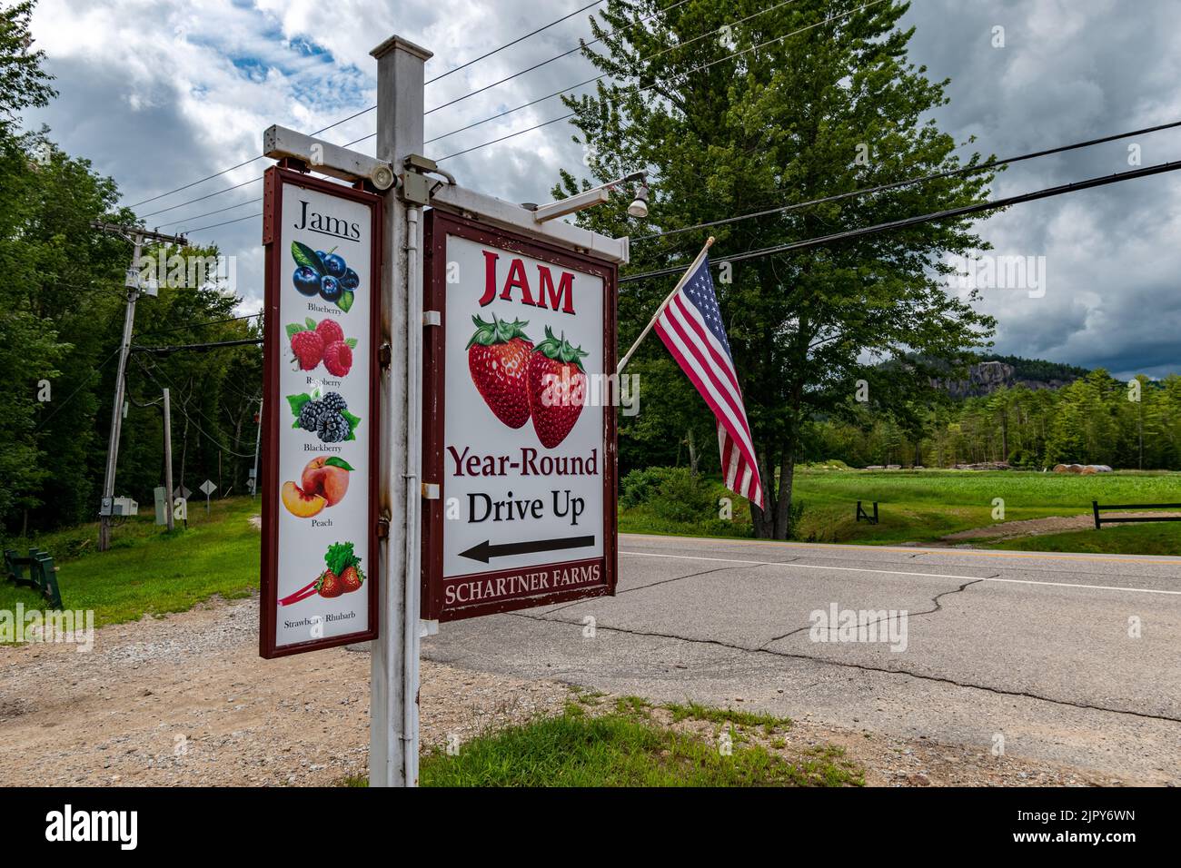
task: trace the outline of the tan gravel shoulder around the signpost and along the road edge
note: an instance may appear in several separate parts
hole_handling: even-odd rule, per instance
[[[71,645],[0,647],[0,781],[8,785],[331,785],[366,772],[368,653],[262,660],[257,598],[102,628]],[[573,686],[424,660],[424,749],[557,713]],[[611,697],[603,697],[603,705]],[[978,749],[796,720],[787,750],[833,744],[868,785],[1111,785]]]

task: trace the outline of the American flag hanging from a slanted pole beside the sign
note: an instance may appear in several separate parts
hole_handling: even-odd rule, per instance
[[[702,256],[697,267],[681,279],[680,289],[657,316],[654,328],[718,419],[726,488],[763,507],[755,442],[713,293],[709,256]]]

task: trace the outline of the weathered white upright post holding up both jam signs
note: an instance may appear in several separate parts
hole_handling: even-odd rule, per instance
[[[431,52],[391,37],[372,52],[377,74],[377,158],[400,171],[423,150],[423,66]],[[417,217],[417,214],[416,214]],[[391,350],[381,372],[381,458],[378,500],[389,535],[378,549],[380,635],[372,642],[370,693],[370,785],[418,783],[418,482],[417,411],[422,379],[420,285],[412,283],[422,228],[407,220],[396,192],[385,197],[381,262],[381,340]],[[412,420],[413,417],[413,420]]]

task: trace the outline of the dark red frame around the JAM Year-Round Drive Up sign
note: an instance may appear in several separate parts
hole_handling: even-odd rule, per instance
[[[423,481],[438,483],[439,497],[423,502],[423,562],[422,562],[422,616],[426,620],[457,621],[479,618],[498,612],[515,612],[536,606],[550,606],[594,596],[614,596],[619,576],[618,524],[615,476],[618,472],[618,444],[615,412],[605,407],[603,417],[603,503],[602,503],[602,560],[603,580],[599,585],[582,586],[556,593],[496,600],[487,603],[444,608],[443,606],[443,511],[445,492],[443,487],[443,407],[444,407],[444,338],[446,334],[446,239],[448,235],[468,239],[500,249],[520,253],[556,266],[574,268],[602,279],[603,287],[603,368],[615,370],[615,302],[618,267],[613,262],[565,250],[539,241],[535,237],[508,231],[496,227],[457,217],[431,209],[424,220],[423,299],[424,309],[439,312],[439,327],[428,328],[423,340]],[[585,561],[557,561],[539,564],[534,569],[561,567]],[[598,560],[598,559],[595,559]],[[495,577],[497,572],[484,574]]]

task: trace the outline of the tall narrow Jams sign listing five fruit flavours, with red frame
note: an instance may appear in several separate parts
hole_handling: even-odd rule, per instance
[[[263,657],[376,635],[379,203],[267,172]]]

